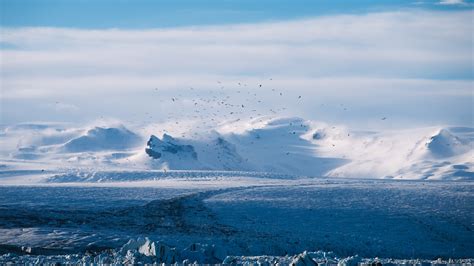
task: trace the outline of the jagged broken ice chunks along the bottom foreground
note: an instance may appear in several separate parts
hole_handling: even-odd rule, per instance
[[[286,255],[286,256],[227,256],[224,260],[213,257],[212,251],[209,249],[197,250],[189,253],[189,249],[193,246],[201,246],[200,244],[192,244],[188,251],[176,251],[165,244],[152,242],[149,239],[131,239],[130,243],[144,242],[146,249],[152,247],[156,250],[159,245],[157,254],[146,255],[137,250],[135,246],[130,249],[128,243],[120,249],[109,250],[99,254],[72,254],[72,255],[22,255],[17,256],[9,253],[0,256],[0,263],[10,264],[97,264],[97,265],[129,265],[129,264],[180,264],[180,265],[201,265],[201,264],[224,264],[224,265],[338,265],[338,266],[357,266],[357,265],[471,265],[472,259],[390,259],[390,258],[361,258],[357,255],[346,258],[339,258],[331,252],[307,252]],[[151,243],[148,245],[148,243]],[[158,244],[156,244],[158,243]],[[125,253],[126,251],[126,253]]]

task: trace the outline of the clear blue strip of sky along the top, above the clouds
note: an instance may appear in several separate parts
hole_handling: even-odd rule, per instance
[[[255,23],[387,10],[472,9],[473,0],[2,0],[2,26],[156,28]],[[449,4],[452,2],[452,4]]]

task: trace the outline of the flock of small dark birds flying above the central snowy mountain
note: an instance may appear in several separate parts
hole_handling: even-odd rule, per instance
[[[219,123],[223,121],[237,122],[246,119],[251,120],[268,114],[271,114],[271,116],[280,116],[288,110],[285,106],[286,104],[294,105],[303,101],[302,95],[291,96],[291,94],[287,94],[281,89],[266,88],[262,83],[249,86],[243,82],[236,82],[227,89],[221,81],[217,81],[217,84],[217,88],[210,90],[190,87],[186,91],[171,96],[168,103],[166,100],[163,102],[163,99],[167,98],[169,91],[154,88],[154,93],[160,94],[159,98],[162,105],[165,107],[171,106],[171,108],[167,108],[169,112],[167,113],[166,121],[180,128],[179,131],[181,131],[182,138],[190,137],[190,135],[196,137],[201,133],[207,135],[215,129],[216,125],[219,125]],[[274,99],[271,99],[272,97]],[[277,101],[275,101],[275,97]],[[277,102],[278,107],[272,107],[272,102]],[[56,102],[56,104],[59,104],[59,102]],[[321,104],[321,107],[324,106],[325,104]],[[347,106],[343,104],[339,104],[338,108],[343,111],[348,110]],[[147,119],[150,119],[150,123],[156,122],[152,113],[146,112],[145,115]],[[381,118],[381,120],[386,119],[386,117]],[[198,121],[198,123],[186,128],[186,125],[180,124],[180,121],[183,120]],[[259,120],[259,122],[262,121],[263,120]],[[306,127],[306,125],[302,124],[301,127]],[[145,129],[145,127],[143,127],[143,129]],[[167,132],[166,129],[161,130],[162,132]],[[296,132],[292,131],[289,132],[289,134],[296,134]],[[350,134],[347,136],[349,137]],[[215,153],[217,154],[217,159],[220,161],[225,155],[219,154],[219,148],[217,147],[219,143],[213,144],[216,146],[214,147],[216,150]],[[207,146],[209,145],[210,144],[207,144]],[[335,144],[332,144],[332,146],[335,147]],[[283,152],[286,155],[291,154],[288,151]],[[242,159],[248,160],[245,158]],[[128,158],[126,160],[129,161]]]

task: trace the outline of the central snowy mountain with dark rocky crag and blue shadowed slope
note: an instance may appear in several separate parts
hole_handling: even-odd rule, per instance
[[[146,149],[155,167],[169,169],[237,170],[321,176],[345,160],[318,156],[305,139],[311,130],[299,118],[255,119],[222,125],[204,138],[151,136]],[[161,154],[160,158],[155,156]],[[142,161],[142,162],[143,162]]]

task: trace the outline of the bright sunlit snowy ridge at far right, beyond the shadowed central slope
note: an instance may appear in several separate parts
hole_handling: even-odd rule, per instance
[[[350,143],[351,162],[328,176],[470,180],[474,177],[473,132],[471,128],[426,128],[358,137]]]

